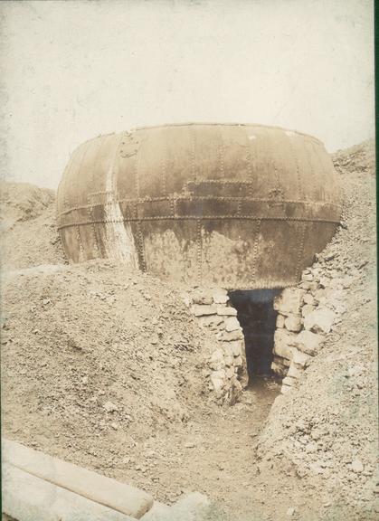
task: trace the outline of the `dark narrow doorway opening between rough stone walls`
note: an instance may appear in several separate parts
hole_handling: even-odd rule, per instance
[[[272,375],[274,333],[278,313],[273,306],[280,289],[247,289],[229,293],[245,337],[249,384],[255,376]]]

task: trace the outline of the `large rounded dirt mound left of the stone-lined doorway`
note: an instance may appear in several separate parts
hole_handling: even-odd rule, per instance
[[[158,280],[90,262],[26,270],[8,278],[4,298],[3,427],[19,440],[81,450],[93,464],[104,437],[125,453],[206,402],[197,367],[212,339]]]

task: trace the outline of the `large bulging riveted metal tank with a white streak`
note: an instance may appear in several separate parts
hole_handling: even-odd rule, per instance
[[[130,262],[225,289],[296,284],[336,232],[338,177],[323,144],[282,128],[185,124],[87,141],[58,189],[69,261]]]

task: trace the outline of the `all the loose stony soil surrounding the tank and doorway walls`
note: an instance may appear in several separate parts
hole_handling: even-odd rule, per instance
[[[69,266],[53,194],[3,185],[3,435],[167,504],[204,492],[213,519],[376,519],[374,143],[333,159],[344,223],[314,269],[346,306],[297,390],[257,377],[233,406],[210,400],[182,289]]]

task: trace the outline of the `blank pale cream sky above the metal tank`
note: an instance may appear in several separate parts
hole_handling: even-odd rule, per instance
[[[99,134],[261,123],[374,137],[371,0],[0,3],[2,175],[56,188]]]

